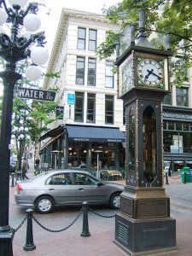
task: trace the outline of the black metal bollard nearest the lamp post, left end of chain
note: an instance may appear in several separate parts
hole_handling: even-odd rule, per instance
[[[26,244],[23,247],[25,251],[33,251],[36,246],[33,243],[33,235],[32,235],[32,209],[27,209],[27,224],[26,224]]]

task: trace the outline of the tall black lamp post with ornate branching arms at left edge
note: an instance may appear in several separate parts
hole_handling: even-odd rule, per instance
[[[24,9],[27,0],[9,0],[11,8],[7,7],[5,0],[0,0],[0,57],[5,61],[5,68],[0,72],[3,79],[3,107],[1,120],[0,137],[0,255],[13,255],[12,241],[14,230],[9,226],[9,156],[11,138],[11,118],[13,111],[14,88],[16,82],[21,79],[21,74],[17,73],[18,61],[25,60],[31,55],[29,49],[32,42],[38,42],[39,47],[44,44],[44,33],[32,34],[30,38],[20,37],[20,28],[31,32],[38,30],[37,11],[38,3],[29,3]],[[34,17],[30,30],[30,19]],[[4,22],[11,25],[10,35],[3,30]],[[36,27],[35,27],[36,26]],[[37,64],[32,60],[33,63]],[[46,61],[45,61],[46,62]],[[41,64],[39,64],[41,65]],[[33,68],[34,67],[34,68]],[[33,66],[30,70],[34,70]],[[31,74],[31,73],[30,73]],[[34,78],[35,80],[35,78]]]

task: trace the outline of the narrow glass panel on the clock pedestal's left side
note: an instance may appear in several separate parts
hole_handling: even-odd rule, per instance
[[[128,137],[129,137],[129,151],[128,151],[128,155],[129,155],[129,163],[128,163],[128,180],[133,183],[134,181],[134,176],[136,175],[135,172],[135,158],[136,158],[136,153],[135,153],[135,113],[134,113],[134,109],[131,108],[130,112],[129,112],[129,117],[128,117],[128,127],[129,127],[129,131],[128,131]]]

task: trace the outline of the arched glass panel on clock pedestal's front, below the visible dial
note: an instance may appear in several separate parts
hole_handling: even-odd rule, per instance
[[[143,175],[152,183],[157,175],[156,114],[148,106],[143,112]]]

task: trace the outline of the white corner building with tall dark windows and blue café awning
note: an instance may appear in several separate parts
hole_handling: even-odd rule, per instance
[[[96,167],[101,150],[101,168],[125,167],[125,120],[123,102],[117,96],[117,76],[113,73],[115,55],[100,60],[96,47],[109,30],[118,26],[102,15],[63,9],[49,59],[44,90],[58,88],[56,102],[64,107],[63,116],[44,136],[41,145],[48,166]]]

